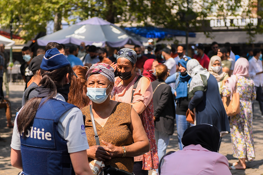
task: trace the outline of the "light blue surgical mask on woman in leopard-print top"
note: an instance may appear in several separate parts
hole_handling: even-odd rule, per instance
[[[106,94],[106,90],[108,89],[108,87],[107,88],[88,88],[87,87],[87,96],[94,103],[97,103],[97,104],[103,103],[105,102],[105,100],[108,98],[110,94],[110,93],[108,95]]]

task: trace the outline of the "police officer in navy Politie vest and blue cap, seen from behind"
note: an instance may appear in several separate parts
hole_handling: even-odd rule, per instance
[[[74,74],[70,63],[54,48],[46,52],[40,68],[39,94],[15,120],[11,164],[25,175],[91,175],[82,112],[66,102]]]

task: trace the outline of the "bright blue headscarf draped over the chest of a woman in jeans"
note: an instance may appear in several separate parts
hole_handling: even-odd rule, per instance
[[[186,68],[186,63],[188,62],[188,60],[190,60],[190,57],[184,57],[182,58],[178,64],[180,63],[184,68]],[[180,73],[179,76],[179,83],[178,86],[176,87],[176,99],[179,99],[181,97],[187,97],[188,94],[188,85],[191,82],[191,77],[190,75],[186,74],[185,76],[183,76]]]

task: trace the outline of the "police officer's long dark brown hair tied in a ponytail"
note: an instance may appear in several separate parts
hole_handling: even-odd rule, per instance
[[[39,84],[41,86],[39,88],[49,88],[50,93],[47,96],[47,99],[42,103],[42,105],[49,99],[53,98],[57,94],[57,88],[61,87],[63,84],[67,73],[69,73],[69,79],[72,75],[72,68],[69,66],[65,66],[62,68],[58,68],[51,72],[44,71],[41,69],[42,79]],[[37,109],[42,100],[42,97],[34,97],[26,102],[22,110],[19,112],[17,116],[17,128],[20,134],[23,134],[23,137],[26,136],[26,130],[33,125],[34,118],[37,113]]]

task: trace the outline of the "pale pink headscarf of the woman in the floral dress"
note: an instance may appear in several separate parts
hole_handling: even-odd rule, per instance
[[[226,81],[226,86],[230,87],[230,91],[231,91],[230,99],[232,99],[232,94],[236,89],[236,81],[237,81],[236,78],[239,76],[249,77],[248,69],[249,69],[249,62],[247,61],[247,59],[241,57],[236,60],[233,75],[231,75],[230,78],[227,78]]]

